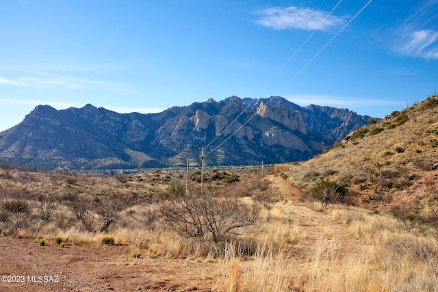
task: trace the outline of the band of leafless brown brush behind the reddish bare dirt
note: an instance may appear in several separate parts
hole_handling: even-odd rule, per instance
[[[234,183],[229,177],[224,176],[227,183]],[[116,180],[127,183],[126,176],[123,181]],[[67,180],[66,189],[61,191],[51,187],[31,191],[12,185],[0,187],[0,228],[16,233],[53,223],[60,229],[74,226],[89,233],[106,233],[118,223],[127,224],[120,218],[131,218],[151,232],[169,231],[180,237],[219,242],[251,233],[259,222],[259,202],[246,204],[240,200],[248,195],[244,187],[216,187],[201,194],[196,183],[187,191],[182,181],[169,181],[166,191],[140,198],[80,193],[73,186],[76,182]],[[265,193],[263,189],[261,194]]]

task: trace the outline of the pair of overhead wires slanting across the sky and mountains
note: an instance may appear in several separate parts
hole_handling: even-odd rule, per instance
[[[324,47],[322,47],[322,49],[320,49],[320,51],[318,51],[318,53],[315,53],[315,55],[313,55],[313,57],[311,57],[311,59],[309,60],[309,62],[307,62],[304,66],[302,66],[302,68],[300,68],[300,70],[298,70],[298,72],[296,72],[296,74],[291,78],[291,79],[289,79],[289,81],[287,81],[287,83],[279,90],[279,92],[281,92],[281,90],[283,90],[287,85],[289,85],[289,83],[291,83],[299,74],[300,74],[300,72],[302,72],[302,70],[304,70],[312,61],[313,61],[313,59],[315,59],[315,57],[318,57],[318,55],[322,52],[322,51],[324,51],[324,49],[327,47],[327,46],[329,46],[329,44],[331,44],[331,42],[333,42],[333,40],[335,40],[335,38],[337,37],[337,36],[339,36],[339,34],[341,34],[341,32],[342,31],[344,31],[344,29],[346,29],[346,27],[348,26],[348,25],[350,25],[350,23],[353,21],[353,20],[355,20],[355,18],[357,17],[357,16],[359,16],[359,14],[361,14],[361,12],[370,4],[372,2],[372,0],[370,0],[370,1],[368,1],[368,3],[366,3],[364,6],[363,6],[363,8],[361,8],[361,10],[359,10],[359,12],[357,12],[357,14],[355,14],[355,16],[353,16],[351,19],[350,19],[350,21],[348,21],[348,23],[346,23],[346,25],[344,25],[344,27],[342,27],[342,29],[339,29],[339,31],[337,32],[337,34],[335,34],[335,36],[333,36],[333,38],[331,38],[331,40],[329,40],[329,42],[327,42],[325,45],[324,45]],[[340,3],[340,2],[339,2]],[[339,5],[339,3],[337,4],[337,5]],[[335,8],[337,7],[337,5],[335,6]],[[334,9],[333,9],[334,10]],[[332,10],[332,12],[333,12],[333,10]],[[325,19],[324,19],[324,21],[325,21]],[[313,35],[313,33],[312,33],[312,35]],[[307,42],[307,40],[305,41],[305,42]],[[302,46],[301,46],[302,47]],[[300,48],[301,48],[300,47]],[[296,53],[294,53],[294,55],[296,55]],[[292,59],[292,57],[290,58],[290,59]],[[290,61],[290,59],[287,61],[287,63],[289,63],[289,61]],[[286,63],[286,64],[287,64]],[[280,70],[283,70],[283,68],[284,68],[285,66],[283,66]],[[277,75],[278,75],[278,73],[277,73]],[[272,81],[272,80],[271,80]],[[271,82],[270,81],[270,82]],[[268,100],[268,102],[267,102],[267,104],[268,103],[270,103],[270,101],[272,101],[272,97]],[[247,107],[248,108],[248,107]],[[244,109],[244,111],[245,111],[246,109]],[[243,114],[243,112],[244,111],[242,111],[242,113],[238,116],[238,117],[240,117],[240,116],[242,116],[242,114]],[[209,151],[209,152],[207,152],[207,154],[205,154],[204,155],[204,157],[206,157],[207,155],[209,155],[209,154],[211,154],[212,152],[214,152],[214,151],[216,151],[218,148],[220,148],[220,146],[222,146],[225,142],[227,142],[228,140],[230,140],[231,139],[231,137],[233,137],[233,135],[235,135],[238,131],[240,131],[246,124],[248,124],[248,122],[250,122],[250,120],[252,120],[255,116],[257,115],[257,111],[255,111],[255,113],[253,114],[253,116],[250,116],[250,118],[248,119],[248,120],[246,120],[246,122],[244,122],[244,124],[242,124],[240,127],[239,127],[239,129],[237,129],[236,131],[234,131],[233,133],[231,133],[231,135],[229,135],[228,137],[227,137],[227,139],[225,139],[224,141],[222,141],[218,146],[216,146],[213,150],[211,150],[211,151]],[[237,117],[237,118],[238,118]],[[237,118],[235,119],[235,120],[237,120]],[[235,122],[235,120],[233,121],[233,122]],[[229,125],[229,127],[231,126],[231,124]],[[227,129],[229,128],[229,127],[227,127]],[[224,131],[226,131],[226,130],[224,130]],[[224,131],[222,131],[222,133],[224,133]],[[222,133],[221,133],[221,135],[222,135]],[[216,137],[216,139],[217,139],[217,137]],[[215,139],[215,140],[216,140]],[[215,141],[214,140],[214,141]],[[211,145],[211,143],[212,142],[210,142],[209,144],[208,144],[208,146],[209,145]]]

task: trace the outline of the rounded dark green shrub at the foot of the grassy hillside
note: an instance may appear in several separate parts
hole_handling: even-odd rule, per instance
[[[313,199],[321,202],[323,207],[329,204],[344,202],[348,189],[335,181],[320,179],[316,186],[311,189]]]

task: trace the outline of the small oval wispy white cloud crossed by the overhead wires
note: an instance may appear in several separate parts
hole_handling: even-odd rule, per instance
[[[255,21],[256,23],[273,29],[318,29],[328,31],[346,23],[346,17],[333,15],[327,17],[329,13],[323,10],[296,6],[266,8],[254,12],[255,15],[259,16],[259,19]],[[327,18],[326,21],[324,21],[325,18]],[[321,25],[322,21],[324,23]]]

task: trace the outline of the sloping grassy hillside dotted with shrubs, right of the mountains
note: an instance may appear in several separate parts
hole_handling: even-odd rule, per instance
[[[330,151],[294,165],[288,181],[309,194],[320,179],[346,184],[353,204],[387,211],[438,199],[438,96],[347,135]]]

